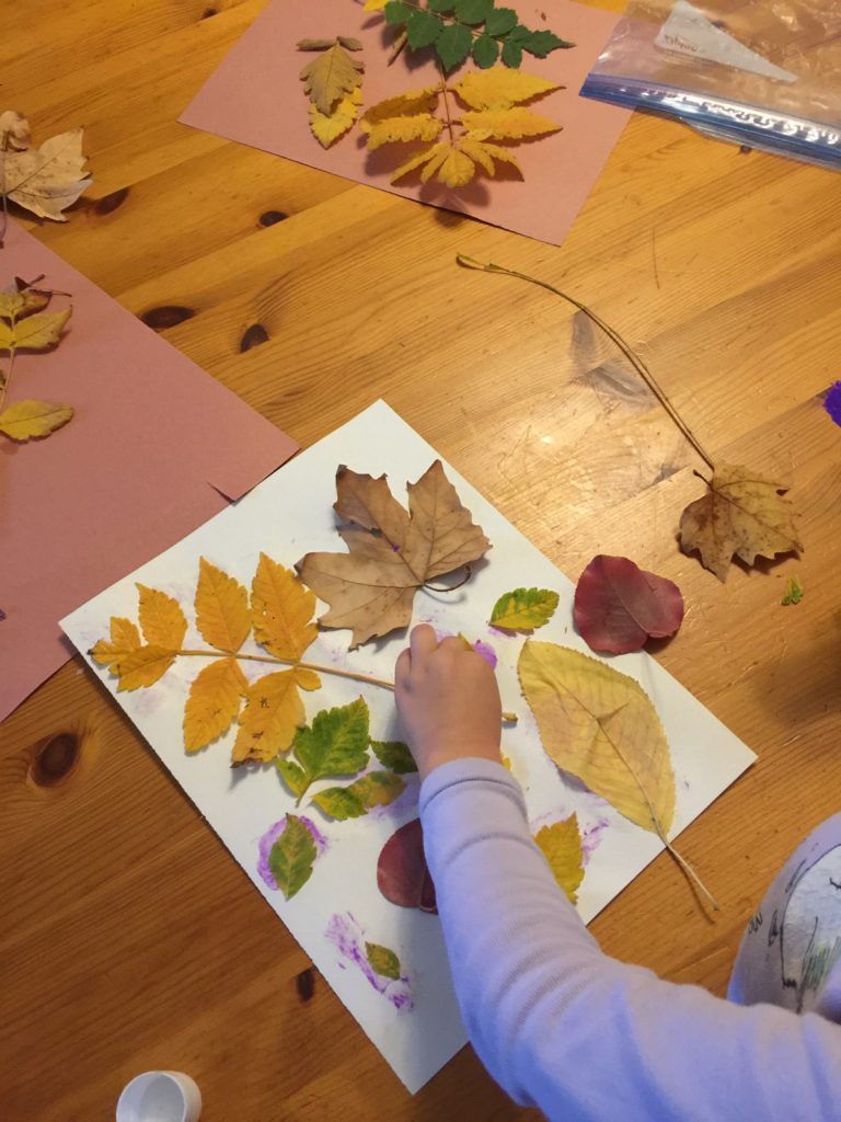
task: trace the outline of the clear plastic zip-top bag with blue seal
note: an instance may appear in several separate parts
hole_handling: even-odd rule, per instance
[[[581,93],[841,168],[841,0],[631,0]]]

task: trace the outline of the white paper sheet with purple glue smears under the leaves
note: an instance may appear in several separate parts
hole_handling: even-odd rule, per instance
[[[135,582],[140,581],[181,601],[191,622],[185,646],[200,645],[192,609],[200,557],[250,587],[260,552],[292,567],[312,550],[343,550],[332,509],[336,467],[346,463],[375,476],[386,472],[396,497],[405,503],[406,481],[415,481],[436,454],[385,403],[378,402],[290,461],[235,506],[78,608],[62,622],[62,627],[78,650],[86,652],[108,635],[112,615],[137,618]],[[604,800],[565,779],[544,753],[517,683],[516,663],[524,640],[489,628],[488,618],[498,597],[512,588],[528,585],[555,589],[561,598],[558,608],[538,637],[588,651],[572,625],[573,585],[479,491],[446,463],[444,469],[493,548],[487,562],[477,565],[471,580],[458,591],[419,591],[415,622],[428,620],[453,634],[463,632],[496,651],[503,708],[519,716],[518,725],[503,733],[503,751],[526,791],[533,828],[537,830],[573,810],[577,812],[586,856],[577,907],[588,922],[663,846]],[[395,660],[406,643],[405,633],[350,654],[349,638],[346,631],[323,632],[305,659],[380,678],[394,677]],[[259,653],[251,640],[243,650]],[[639,680],[665,726],[677,787],[676,836],[750,765],[754,754],[647,654],[622,655],[611,662]],[[117,679],[91,662],[153,751],[414,1093],[466,1039],[437,917],[398,908],[377,888],[377,858],[382,845],[398,826],[417,813],[417,778],[406,776],[406,791],[390,807],[334,822],[306,801],[295,811],[295,800],[272,765],[232,771],[233,730],[203,752],[187,756],[182,739],[184,701],[188,682],[204,664],[201,659],[182,659],[150,689],[117,693]],[[251,679],[267,672],[256,663],[243,666]],[[321,709],[345,705],[360,693],[370,707],[371,736],[399,739],[394,697],[377,687],[323,675],[322,689],[304,695],[307,717],[312,720]],[[265,848],[271,839],[271,827],[287,811],[309,818],[327,839],[326,852],[316,859],[311,880],[289,901],[269,886],[258,867],[260,839],[268,838]],[[674,876],[676,889],[688,892],[676,867]],[[388,982],[366,971],[366,940],[398,954],[404,974],[400,981]]]

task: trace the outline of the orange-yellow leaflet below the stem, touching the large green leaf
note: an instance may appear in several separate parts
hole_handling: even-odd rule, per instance
[[[296,670],[266,674],[248,688],[246,708],[231,753],[233,764],[257,760],[268,763],[292,747],[295,729],[306,721]]]

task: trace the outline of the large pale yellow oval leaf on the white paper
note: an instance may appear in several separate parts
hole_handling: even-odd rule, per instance
[[[548,756],[665,842],[674,773],[663,725],[638,682],[598,659],[533,640],[518,673]]]

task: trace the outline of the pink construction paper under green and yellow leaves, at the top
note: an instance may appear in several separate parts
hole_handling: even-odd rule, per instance
[[[560,245],[584,204],[619,138],[628,110],[579,96],[618,17],[571,0],[516,4],[528,27],[548,27],[576,44],[548,58],[524,56],[523,70],[558,82],[558,90],[534,103],[535,110],[563,125],[563,131],[516,147],[524,181],[502,172],[496,180],[480,174],[458,192],[417,177],[392,186],[389,173],[422,145],[394,145],[368,154],[358,127],[326,150],[309,132],[307,100],[298,73],[314,55],[296,49],[303,38],[349,35],[361,39],[366,65],[362,98],[372,105],[405,90],[434,84],[434,62],[417,64],[404,50],[388,65],[381,12],[364,12],[353,0],[272,0],[200,90],[181,120],[186,125],[286,156],[345,178],[417,199],[492,222],[517,233]],[[427,52],[423,55],[427,56]],[[472,63],[466,68],[475,68]],[[459,73],[459,72],[456,72]]]

